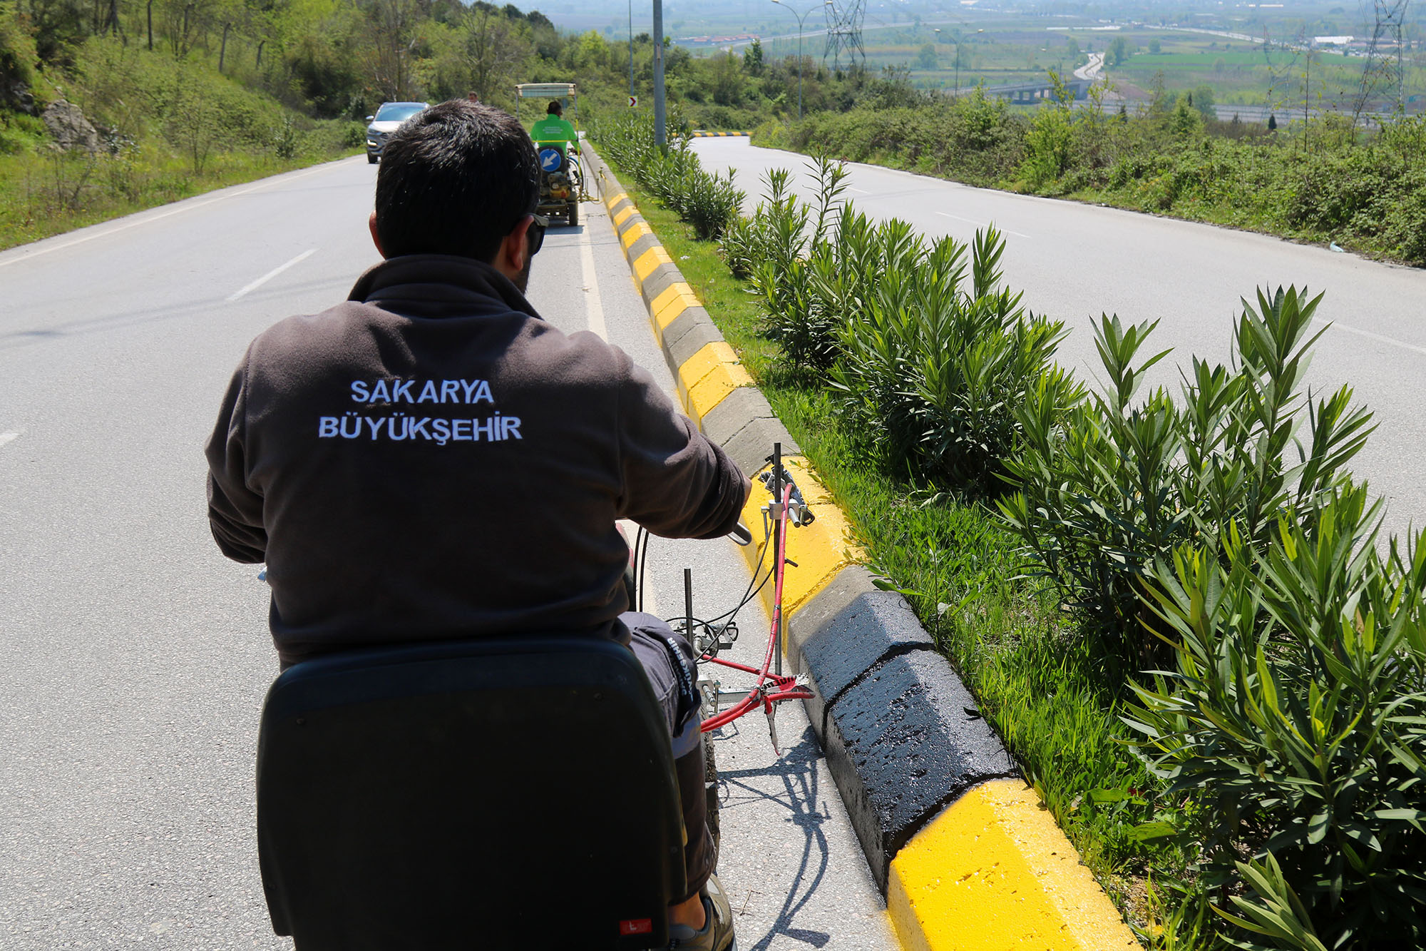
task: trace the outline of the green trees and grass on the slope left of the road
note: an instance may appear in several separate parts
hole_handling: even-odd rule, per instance
[[[645,94],[653,41],[632,46]],[[810,110],[908,91],[803,66]],[[0,0],[0,247],[351,154],[382,101],[473,94],[520,114],[516,83],[576,81],[586,124],[627,109],[629,67],[629,43],[563,34],[511,4]],[[752,127],[797,101],[796,60],[764,63],[760,47],[710,59],[669,47],[665,70],[697,126]],[[56,104],[67,147],[43,119]]]

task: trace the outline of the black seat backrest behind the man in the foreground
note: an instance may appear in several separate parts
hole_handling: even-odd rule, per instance
[[[298,951],[652,948],[683,894],[669,731],[617,644],[332,654],[272,684],[258,857]]]

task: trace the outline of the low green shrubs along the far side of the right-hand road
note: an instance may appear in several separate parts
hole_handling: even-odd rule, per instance
[[[1171,96],[1162,84],[1142,116],[1071,109],[1068,94],[1032,114],[980,91],[908,94],[914,104],[769,123],[757,141],[1426,266],[1422,116],[1380,130],[1333,116],[1265,129],[1214,119],[1208,89]]]

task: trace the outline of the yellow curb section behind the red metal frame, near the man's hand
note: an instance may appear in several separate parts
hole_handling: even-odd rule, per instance
[[[767,448],[771,451],[773,447]],[[787,525],[787,558],[797,564],[789,564],[787,574],[783,577],[783,620],[786,621],[830,584],[838,571],[860,561],[866,554],[848,541],[847,517],[841,514],[841,508],[831,494],[817,481],[807,461],[800,456],[784,456],[783,466],[793,474],[793,481],[801,490],[803,500],[817,517],[810,525],[801,528]],[[771,466],[764,466],[761,471],[766,473],[770,468]],[[770,500],[771,495],[754,477],[753,493],[743,505],[743,524],[753,533],[753,544],[739,548],[754,577],[759,570],[759,551],[767,540],[761,508]],[[770,563],[771,553],[764,553],[764,564]],[[773,585],[763,585],[761,598],[767,613],[771,614]]]

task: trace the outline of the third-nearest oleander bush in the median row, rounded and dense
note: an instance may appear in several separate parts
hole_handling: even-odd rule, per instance
[[[925,247],[901,221],[876,228],[877,276],[860,313],[841,324],[831,383],[853,428],[884,464],[971,494],[995,493],[1021,438],[1030,398],[1077,398],[1051,366],[1064,324],[1027,314],[1000,287],[1004,241],[991,228],[967,247]],[[967,263],[970,268],[967,273]]]

